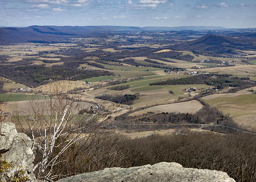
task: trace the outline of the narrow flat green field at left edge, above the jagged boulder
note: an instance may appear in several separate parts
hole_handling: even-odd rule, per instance
[[[28,95],[24,93],[6,93],[0,94],[0,102],[14,102],[14,101],[29,101],[29,100],[39,100],[45,99],[48,96],[40,95]]]

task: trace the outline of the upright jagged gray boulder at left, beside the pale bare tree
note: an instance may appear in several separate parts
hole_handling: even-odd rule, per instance
[[[12,169],[4,173],[2,180],[8,181],[17,170],[25,170],[31,181],[36,181],[33,169],[35,155],[32,151],[32,140],[24,133],[18,133],[15,124],[0,123],[0,152],[2,160],[12,163]]]

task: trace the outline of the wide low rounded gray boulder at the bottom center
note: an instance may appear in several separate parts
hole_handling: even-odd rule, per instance
[[[141,167],[106,168],[78,174],[57,182],[235,182],[217,170],[184,168],[178,163],[157,163]]]

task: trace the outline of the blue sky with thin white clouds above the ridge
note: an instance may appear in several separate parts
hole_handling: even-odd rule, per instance
[[[0,0],[0,26],[256,27],[256,0]]]

